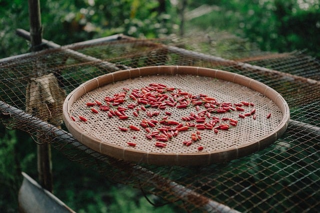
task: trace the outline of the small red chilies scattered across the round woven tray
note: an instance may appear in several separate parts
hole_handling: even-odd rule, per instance
[[[127,100],[131,100],[129,104],[125,104]],[[132,103],[133,101],[133,103]],[[184,146],[190,146],[192,143],[201,140],[200,131],[211,130],[215,134],[219,130],[229,130],[236,127],[238,121],[228,117],[221,119],[216,114],[225,114],[227,112],[239,112],[239,118],[252,116],[256,119],[254,104],[246,101],[240,103],[219,103],[215,98],[208,97],[205,94],[192,95],[181,89],[167,87],[161,83],[150,83],[141,89],[123,88],[119,93],[112,97],[105,97],[104,104],[98,100],[86,103],[90,107],[92,113],[104,111],[108,118],[116,117],[121,120],[138,118],[140,113],[145,113],[148,119],[143,118],[140,127],[129,125],[128,127],[119,126],[119,131],[140,131],[143,128],[146,132],[145,137],[148,140],[153,138],[156,140],[155,146],[165,148],[167,142],[176,137],[179,132],[189,131],[192,133],[190,139],[182,142]],[[185,109],[194,107],[195,112],[181,117],[181,120],[170,120],[171,112],[166,111],[169,107]],[[152,109],[152,110],[151,110]],[[249,110],[249,111],[248,111]],[[245,112],[248,111],[248,112]],[[163,116],[162,116],[162,114]],[[132,113],[129,116],[128,113]],[[161,114],[160,119],[155,117]],[[270,118],[270,113],[266,116]],[[75,121],[75,118],[71,116]],[[83,116],[79,116],[81,121],[87,121]],[[134,137],[135,138],[135,137]],[[136,146],[134,142],[127,142],[129,146]],[[203,146],[197,146],[197,149],[203,150]]]

